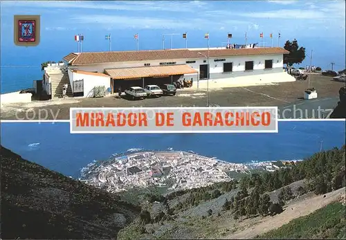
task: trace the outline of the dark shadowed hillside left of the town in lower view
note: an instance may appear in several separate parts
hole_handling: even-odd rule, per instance
[[[116,239],[140,207],[1,146],[1,239]]]

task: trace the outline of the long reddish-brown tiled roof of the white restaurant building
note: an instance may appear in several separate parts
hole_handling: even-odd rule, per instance
[[[72,65],[82,64],[101,64],[111,62],[140,62],[150,60],[169,60],[169,59],[199,59],[205,58],[208,50],[140,50],[140,51],[120,51],[120,52],[85,52],[70,53],[64,59],[71,59]],[[241,49],[210,49],[210,57],[232,57],[243,55],[271,55],[288,54],[289,51],[284,48],[241,48]]]

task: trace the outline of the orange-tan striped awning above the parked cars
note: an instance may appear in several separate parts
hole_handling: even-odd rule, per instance
[[[167,75],[183,75],[198,73],[188,65],[144,66],[138,68],[109,68],[104,73],[115,80],[136,79],[140,77],[165,77]]]

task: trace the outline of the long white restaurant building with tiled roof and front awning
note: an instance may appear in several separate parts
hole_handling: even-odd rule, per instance
[[[283,71],[283,55],[288,53],[283,48],[191,48],[70,53],[64,61],[73,95],[91,97],[98,86],[113,93],[118,87],[124,90],[177,80],[192,80],[194,88],[207,79],[292,81]]]

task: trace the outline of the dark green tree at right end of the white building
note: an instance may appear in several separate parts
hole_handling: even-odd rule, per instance
[[[305,59],[305,48],[299,47],[298,41],[287,40],[284,44],[284,49],[289,51],[289,54],[284,55],[284,64],[292,66],[293,64],[301,64]]]

